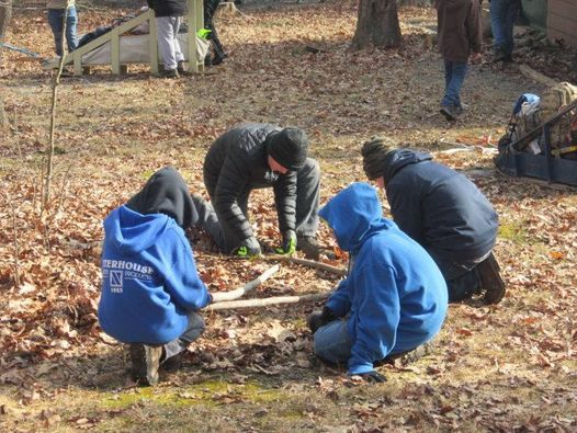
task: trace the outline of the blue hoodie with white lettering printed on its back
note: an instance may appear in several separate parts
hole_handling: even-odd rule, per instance
[[[123,343],[179,338],[188,315],[210,303],[192,249],[173,218],[121,206],[104,220],[99,320]]]

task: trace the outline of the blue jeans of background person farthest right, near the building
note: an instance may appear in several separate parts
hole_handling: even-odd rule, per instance
[[[491,0],[490,29],[494,49],[510,56],[513,52],[513,24],[521,9],[519,0]]]

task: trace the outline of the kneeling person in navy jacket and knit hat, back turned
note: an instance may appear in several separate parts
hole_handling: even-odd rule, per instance
[[[506,288],[493,254],[498,217],[475,184],[429,153],[382,139],[365,143],[362,155],[366,176],[386,191],[395,223],[439,265],[449,300],[483,293],[486,304],[499,303]]]

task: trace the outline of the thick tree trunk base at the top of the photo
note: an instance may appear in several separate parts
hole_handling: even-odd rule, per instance
[[[400,45],[396,0],[360,0],[351,49],[394,48]]]

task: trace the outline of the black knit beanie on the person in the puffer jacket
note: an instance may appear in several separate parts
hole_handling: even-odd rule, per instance
[[[284,128],[269,135],[267,150],[282,167],[296,170],[305,164],[308,137],[303,129]]]

